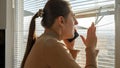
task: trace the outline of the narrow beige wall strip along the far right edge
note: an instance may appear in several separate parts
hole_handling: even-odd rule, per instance
[[[120,68],[120,0],[116,0],[115,6],[115,68]]]

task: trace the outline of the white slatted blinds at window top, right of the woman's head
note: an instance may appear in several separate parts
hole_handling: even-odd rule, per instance
[[[70,0],[72,10],[77,17],[91,17],[102,7],[102,15],[113,14],[114,0]]]

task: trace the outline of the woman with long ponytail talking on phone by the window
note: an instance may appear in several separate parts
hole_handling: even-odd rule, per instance
[[[36,38],[35,19],[42,17],[44,33]],[[74,50],[74,26],[78,22],[64,0],[48,0],[43,10],[39,10],[32,18],[26,53],[21,68],[81,68],[76,62],[78,50]],[[80,36],[86,46],[85,68],[97,68],[97,37],[94,24],[88,29],[87,38]],[[63,40],[65,44],[60,42]]]

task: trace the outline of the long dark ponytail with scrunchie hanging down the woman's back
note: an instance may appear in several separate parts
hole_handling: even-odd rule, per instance
[[[26,51],[25,51],[25,55],[23,57],[23,61],[22,61],[22,64],[21,64],[21,68],[24,68],[24,64],[25,64],[25,61],[27,59],[27,56],[29,55],[37,37],[36,37],[36,34],[35,34],[35,19],[38,18],[39,16],[42,17],[42,10],[40,9],[39,12],[37,12],[33,17],[32,17],[32,20],[30,22],[30,27],[29,27],[29,35],[28,35],[28,41],[27,41],[27,47],[26,47]]]

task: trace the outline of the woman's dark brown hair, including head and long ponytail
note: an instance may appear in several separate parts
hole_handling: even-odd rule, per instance
[[[41,15],[41,12],[42,12],[42,15]],[[33,47],[33,45],[36,41],[35,19],[39,16],[42,16],[41,25],[44,28],[51,28],[57,17],[63,16],[64,18],[67,18],[69,13],[70,13],[70,7],[66,1],[64,1],[64,0],[48,0],[43,11],[37,12],[32,17],[30,27],[29,27],[27,47],[26,47],[26,51],[25,51],[25,55],[24,55],[22,64],[21,64],[21,68],[24,68],[26,58],[29,55],[31,48]]]

